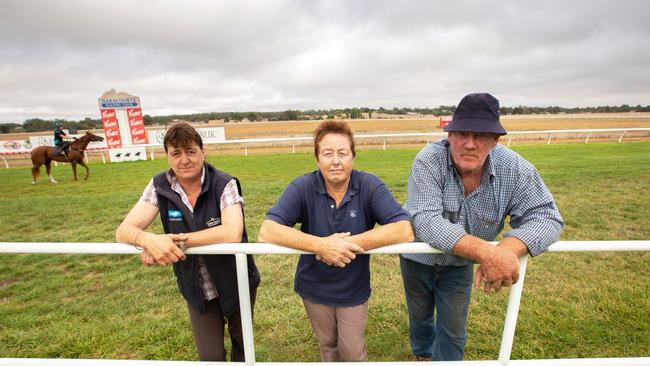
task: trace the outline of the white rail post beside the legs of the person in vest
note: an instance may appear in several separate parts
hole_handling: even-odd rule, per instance
[[[253,344],[253,309],[248,289],[248,261],[246,254],[235,254],[237,261],[237,286],[239,289],[239,312],[244,333],[244,358],[246,366],[255,365],[255,345]]]

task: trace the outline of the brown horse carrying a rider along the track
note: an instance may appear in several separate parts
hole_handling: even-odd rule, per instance
[[[72,165],[72,172],[74,173],[74,180],[77,180],[77,164],[86,168],[86,177],[88,179],[88,165],[84,163],[84,150],[89,143],[93,141],[103,141],[104,138],[101,136],[93,135],[90,132],[86,132],[84,136],[73,141],[68,145],[68,152],[63,155],[59,152],[59,148],[54,146],[39,146],[32,150],[32,184],[36,184],[36,178],[41,170],[41,165],[45,164],[47,171],[47,176],[50,178],[50,182],[58,183],[50,175],[50,163],[52,160],[60,161],[62,163],[70,163]]]

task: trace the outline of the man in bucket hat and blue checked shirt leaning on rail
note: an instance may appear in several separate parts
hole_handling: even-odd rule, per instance
[[[498,292],[517,282],[518,257],[546,251],[563,226],[535,167],[498,144],[507,132],[497,99],[465,96],[444,130],[415,158],[405,204],[416,241],[444,252],[400,257],[418,360],[463,359],[474,262],[474,287]],[[507,216],[512,230],[491,245]]]

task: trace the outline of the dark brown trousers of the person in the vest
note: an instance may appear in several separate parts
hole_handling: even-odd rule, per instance
[[[251,312],[255,305],[257,289],[251,290]],[[201,361],[226,361],[226,348],[224,346],[224,328],[228,324],[228,333],[232,351],[230,361],[244,362],[244,337],[241,327],[241,313],[239,309],[230,316],[224,316],[219,307],[219,298],[205,303],[207,312],[201,314],[192,305],[187,304],[192,323],[192,333],[196,342],[196,350]]]

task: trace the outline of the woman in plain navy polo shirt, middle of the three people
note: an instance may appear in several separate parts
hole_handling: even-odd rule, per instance
[[[354,136],[347,123],[321,123],[314,150],[318,170],[289,184],[267,213],[258,241],[314,253],[300,256],[294,288],[321,360],[364,361],[370,258],[361,253],[412,241],[413,231],[386,185],[352,169]],[[300,230],[293,228],[297,223]]]

